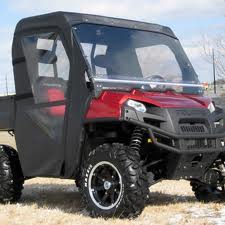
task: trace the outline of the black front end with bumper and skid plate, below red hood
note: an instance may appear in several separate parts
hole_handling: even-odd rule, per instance
[[[123,116],[123,120],[146,130],[152,144],[158,147],[161,153],[166,153],[160,156],[165,162],[164,179],[201,179],[218,156],[225,152],[225,129],[213,129],[213,121],[222,118],[222,114],[212,116],[204,109],[160,108],[155,109],[154,114],[139,113],[130,107],[125,107]],[[208,130],[204,133],[183,134],[179,130],[179,123],[184,120],[190,123],[205,121]],[[155,125],[155,121],[159,122],[158,126]],[[164,124],[163,129],[159,124]],[[154,146],[150,145],[149,151]]]

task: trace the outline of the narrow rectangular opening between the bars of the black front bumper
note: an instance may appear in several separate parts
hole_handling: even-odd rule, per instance
[[[184,148],[187,150],[216,148],[216,139],[185,139]]]

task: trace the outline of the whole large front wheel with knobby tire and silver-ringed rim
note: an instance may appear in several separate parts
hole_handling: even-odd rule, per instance
[[[145,207],[148,184],[140,163],[122,144],[104,144],[84,162],[81,194],[93,217],[136,217]]]

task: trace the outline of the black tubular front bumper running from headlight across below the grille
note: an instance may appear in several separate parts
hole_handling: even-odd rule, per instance
[[[131,108],[125,108],[124,120],[136,126],[146,128],[152,143],[169,152],[177,154],[193,154],[205,152],[224,152],[224,137],[225,131],[220,133],[192,133],[192,134],[179,134],[163,130],[159,127],[148,124],[144,118],[151,118],[154,120],[165,121],[161,116],[152,115],[148,113],[139,113]],[[165,144],[160,141],[160,137],[171,140],[170,144]]]

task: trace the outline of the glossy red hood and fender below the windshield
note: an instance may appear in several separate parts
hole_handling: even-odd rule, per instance
[[[86,118],[120,118],[122,105],[128,99],[146,102],[161,108],[207,108],[211,102],[208,97],[171,91],[164,93],[138,90],[132,92],[104,91],[99,98],[92,100]]]

